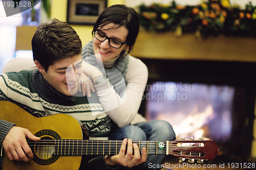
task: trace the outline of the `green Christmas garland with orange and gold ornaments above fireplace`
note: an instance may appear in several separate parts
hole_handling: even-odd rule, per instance
[[[208,35],[241,35],[256,37],[256,6],[249,2],[245,9],[231,6],[228,0],[209,0],[197,6],[154,3],[139,6],[140,25],[147,31],[174,30],[196,33],[201,40]]]

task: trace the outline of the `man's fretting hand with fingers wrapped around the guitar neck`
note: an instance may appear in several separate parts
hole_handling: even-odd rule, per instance
[[[127,142],[128,142],[127,152],[125,154],[125,148],[126,148]],[[134,150],[134,155],[133,155],[133,150]],[[147,158],[147,153],[146,153],[145,147],[142,149],[142,155],[140,155],[138,145],[136,143],[133,143],[132,139],[129,139],[129,140],[123,139],[119,154],[115,156],[109,156],[109,155],[105,156],[105,162],[107,165],[110,165],[110,166],[119,164],[123,166],[133,167],[145,162],[146,158]]]

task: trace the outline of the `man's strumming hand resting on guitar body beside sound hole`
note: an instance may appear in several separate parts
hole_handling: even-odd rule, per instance
[[[39,137],[34,136],[28,129],[13,126],[5,139],[3,140],[3,147],[5,153],[10,160],[28,162],[33,158],[33,153],[27,143],[27,138],[38,141]]]

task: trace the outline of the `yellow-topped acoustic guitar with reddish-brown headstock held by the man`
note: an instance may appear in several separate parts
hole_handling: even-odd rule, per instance
[[[68,114],[54,114],[46,117],[34,117],[17,105],[1,101],[0,119],[15,123],[17,127],[29,129],[41,139],[38,142],[28,140],[34,154],[29,162],[10,161],[1,150],[1,163],[4,170],[40,170],[40,169],[79,169],[83,155],[117,155],[121,140],[83,139],[79,122]],[[216,157],[219,149],[214,140],[175,140],[175,141],[133,141],[140,152],[146,147],[148,155],[173,155],[180,161],[202,162]],[[1,169],[1,167],[0,167]]]

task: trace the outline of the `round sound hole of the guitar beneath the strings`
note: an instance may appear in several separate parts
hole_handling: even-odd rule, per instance
[[[54,140],[51,137],[41,137],[41,140],[36,142],[35,153],[41,159],[52,157],[55,151]]]

